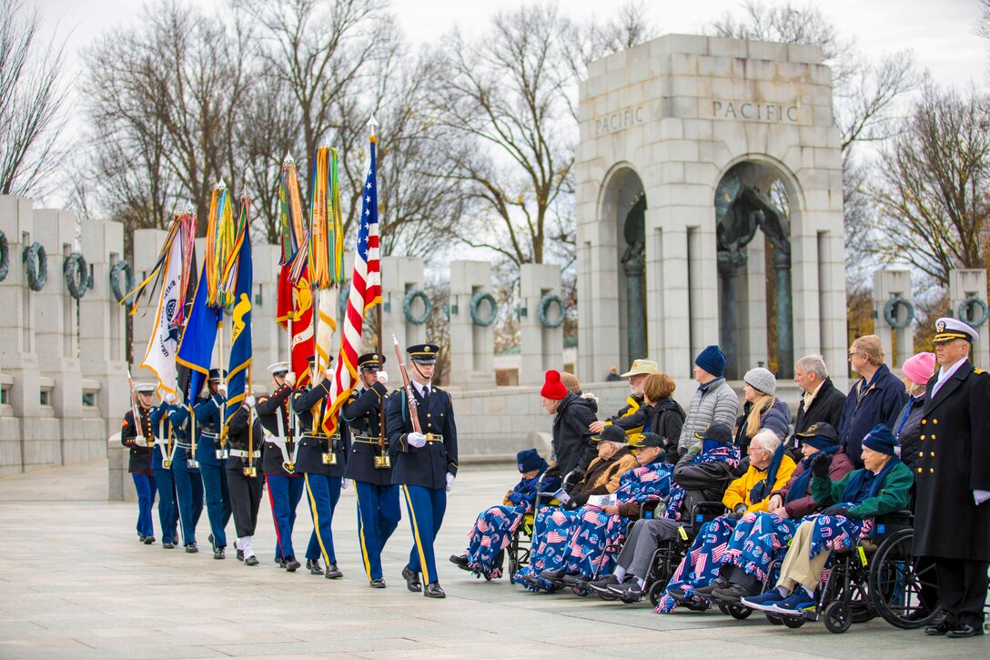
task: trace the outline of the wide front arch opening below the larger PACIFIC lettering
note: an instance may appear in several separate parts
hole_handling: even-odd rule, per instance
[[[794,173],[762,154],[733,159],[715,181],[719,343],[728,379],[759,364],[793,376],[792,245],[804,198]]]

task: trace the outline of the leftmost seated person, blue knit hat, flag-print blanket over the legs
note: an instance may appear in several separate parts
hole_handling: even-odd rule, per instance
[[[505,494],[501,506],[492,506],[478,514],[474,527],[467,534],[466,552],[450,555],[450,561],[457,567],[487,580],[502,577],[505,549],[523,518],[533,511],[540,478],[549,468],[536,449],[516,454],[516,463],[523,479]],[[545,480],[544,488],[548,491],[556,491],[559,487],[559,477]]]

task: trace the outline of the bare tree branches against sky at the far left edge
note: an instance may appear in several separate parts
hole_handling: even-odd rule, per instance
[[[37,6],[0,3],[0,194],[39,194],[66,152],[64,43],[46,42]]]

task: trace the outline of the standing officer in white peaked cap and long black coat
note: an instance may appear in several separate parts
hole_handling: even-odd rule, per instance
[[[922,408],[914,552],[935,562],[945,618],[928,635],[983,634],[990,561],[990,376],[973,367],[976,331],[936,322],[938,373]]]

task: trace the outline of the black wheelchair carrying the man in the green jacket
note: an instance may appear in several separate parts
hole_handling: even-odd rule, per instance
[[[878,517],[868,537],[833,555],[813,607],[798,614],[766,612],[767,619],[789,628],[823,620],[834,633],[877,615],[906,630],[930,625],[940,610],[938,602],[931,602],[938,601],[935,566],[915,561],[913,541],[911,511]]]

